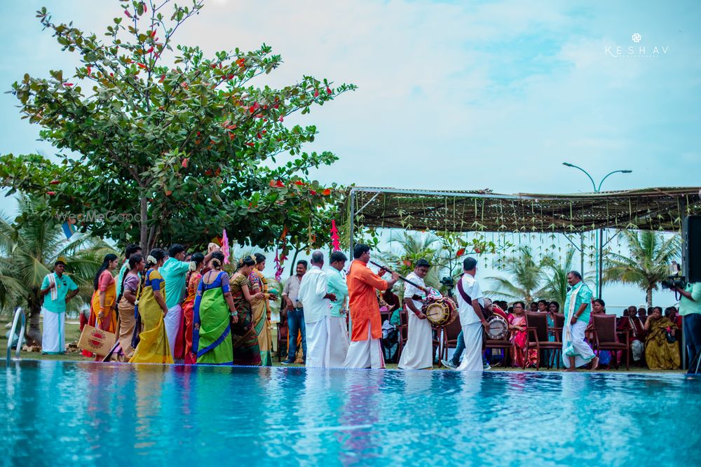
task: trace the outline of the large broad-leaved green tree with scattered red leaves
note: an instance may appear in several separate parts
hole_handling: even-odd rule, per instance
[[[336,196],[335,186],[308,180],[309,170],[336,156],[303,152],[316,127],[285,118],[355,86],[302,76],[271,88],[264,75],[282,60],[266,45],[212,56],[175,46],[177,29],[202,6],[121,2],[100,35],[38,11],[81,66],[13,84],[22,118],[60,154],[57,163],[4,155],[0,183],[44,197],[54,216],[76,214],[83,231],[147,249],[205,244],[224,228],[259,246],[308,230]]]

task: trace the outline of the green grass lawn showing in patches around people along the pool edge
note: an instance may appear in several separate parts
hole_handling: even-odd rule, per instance
[[[0,329],[3,330],[3,332],[0,335],[0,358],[5,358],[7,355],[7,342],[8,340],[5,338],[5,334],[7,333],[8,330],[5,329],[5,325],[8,321],[11,320],[11,316],[0,316]],[[277,338],[275,336],[275,328],[273,328],[272,333],[273,333],[273,343],[277,342]],[[67,321],[66,323],[66,343],[70,342],[78,342],[79,337],[81,336],[81,331],[80,331],[80,325],[77,321]],[[13,351],[13,356],[14,356],[14,351]],[[80,352],[70,352],[64,355],[43,355],[39,352],[25,352],[22,351],[20,352],[20,358],[23,359],[30,359],[30,360],[64,360],[64,361],[93,361],[93,358],[88,358],[84,357]],[[278,358],[276,356],[273,357],[273,366],[285,366],[282,363],[278,362]],[[289,365],[292,367],[301,367],[304,365],[293,363],[292,365]],[[397,363],[387,363],[387,368],[397,368]],[[446,368],[438,368],[437,365],[433,366],[434,370],[445,370]],[[493,370],[498,370],[498,371],[524,371],[521,368],[510,368],[510,367],[503,367],[503,366],[496,366],[493,367]],[[527,368],[525,371],[536,371],[535,368]],[[540,371],[562,371],[562,369],[557,370],[555,368],[548,369],[548,368],[540,368]],[[585,371],[585,370],[583,370]],[[615,370],[615,369],[601,369],[597,370],[599,372],[627,372],[625,370],[625,366],[622,366],[621,369]],[[683,370],[666,370],[666,371],[660,371],[660,370],[649,370],[648,368],[641,368],[638,366],[631,366],[630,367],[631,372],[661,372],[661,373],[683,373]]]

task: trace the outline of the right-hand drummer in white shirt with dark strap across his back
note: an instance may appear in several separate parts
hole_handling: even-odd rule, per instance
[[[458,313],[465,339],[465,356],[458,371],[482,371],[482,330],[489,324],[484,319],[484,293],[475,280],[477,260],[465,258],[463,277],[458,281]]]

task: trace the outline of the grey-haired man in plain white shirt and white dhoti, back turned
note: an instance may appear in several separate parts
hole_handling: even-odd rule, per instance
[[[299,301],[304,307],[306,327],[308,368],[329,366],[329,300],[336,295],[327,293],[327,277],[321,270],[324,266],[324,253],[311,253],[311,270],[302,277],[299,284]]]

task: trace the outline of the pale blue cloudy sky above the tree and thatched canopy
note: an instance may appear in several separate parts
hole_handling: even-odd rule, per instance
[[[123,15],[116,0],[1,2],[1,90],[77,64],[41,31],[41,6],[96,32]],[[340,158],[313,172],[322,183],[577,193],[591,182],[562,162],[597,181],[633,171],[605,190],[701,186],[699,20],[698,1],[209,0],[176,41],[266,43],[285,62],[271,86],[304,74],[358,85],[299,118],[319,130],[308,151]],[[0,94],[0,152],[55,153],[15,105]],[[607,294],[642,302],[634,288]]]

